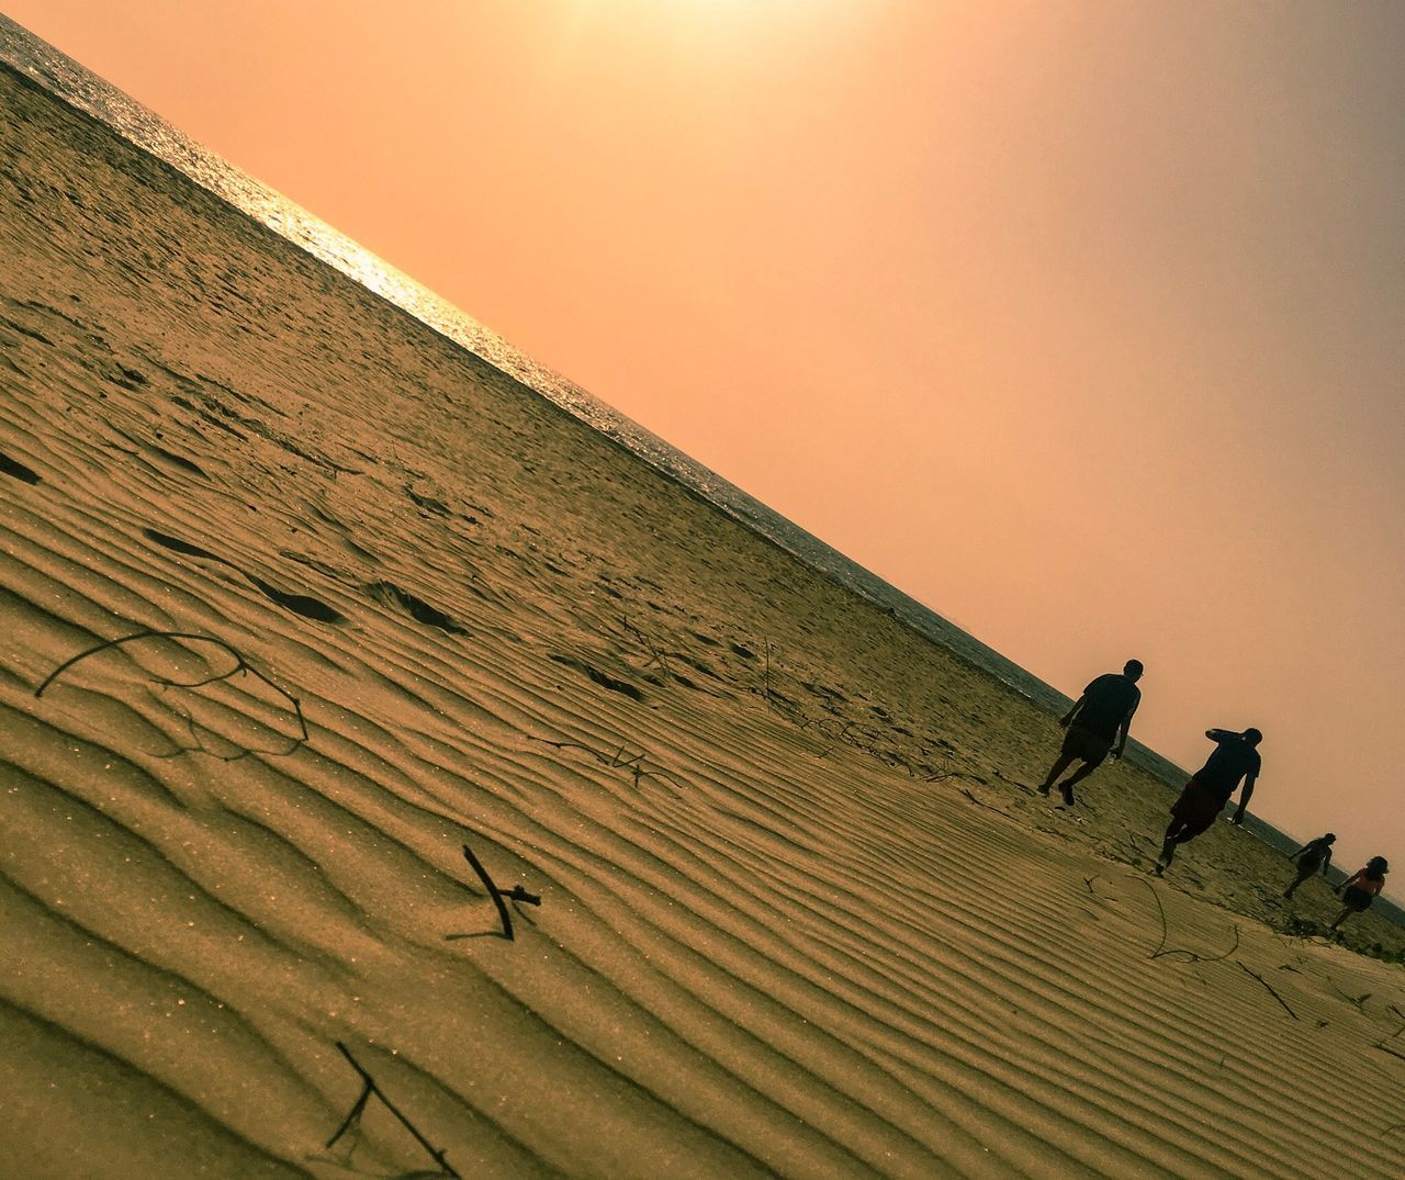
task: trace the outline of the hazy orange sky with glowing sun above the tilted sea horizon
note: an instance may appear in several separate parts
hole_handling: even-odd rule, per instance
[[[1405,871],[1405,4],[0,8],[1055,687],[1138,656],[1183,766],[1259,726],[1256,812]]]

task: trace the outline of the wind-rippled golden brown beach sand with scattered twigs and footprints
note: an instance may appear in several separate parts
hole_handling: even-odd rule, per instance
[[[6,1176],[1401,1173],[1321,884],[1155,881],[1165,784],[0,101]]]

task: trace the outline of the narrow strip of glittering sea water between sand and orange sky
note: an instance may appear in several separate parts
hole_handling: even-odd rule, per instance
[[[878,610],[968,663],[988,671],[1051,712],[1069,698],[1019,664],[967,634],[916,598],[884,582],[669,445],[656,434],[513,348],[500,336],[466,316],[414,280],[395,270],[346,235],[184,136],[159,115],[0,14],[0,62],[31,79],[63,103],[110,126],[149,155],[190,177],[233,208],[261,222],[308,254],[341,271],[407,315],[468,348],[624,447],[649,466],[688,487],[719,511],[833,579]],[[1186,773],[1132,740],[1128,759],[1179,787]],[[1263,834],[1272,829],[1260,825]],[[1277,836],[1277,833],[1273,833]],[[1280,837],[1283,839],[1283,837]],[[1272,840],[1272,837],[1270,837]]]

